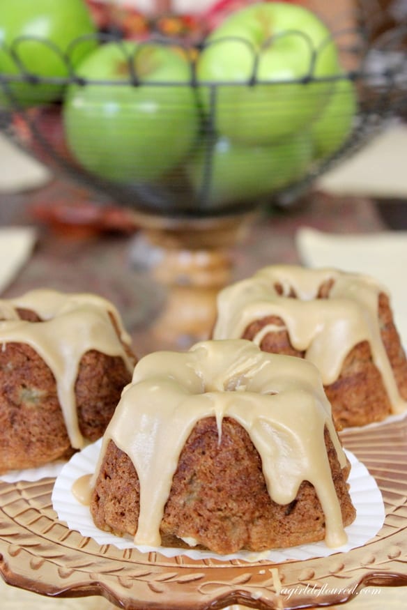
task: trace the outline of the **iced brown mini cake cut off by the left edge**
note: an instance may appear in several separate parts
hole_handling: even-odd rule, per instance
[[[0,300],[0,344],[0,473],[102,436],[136,363],[112,303],[43,289]]]

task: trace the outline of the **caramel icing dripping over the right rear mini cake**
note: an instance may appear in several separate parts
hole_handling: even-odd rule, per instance
[[[317,298],[321,284],[333,280],[328,298]],[[282,287],[282,294],[275,289]],[[291,290],[297,298],[289,298]],[[248,280],[223,289],[217,300],[214,339],[237,339],[254,321],[280,317],[292,346],[320,370],[323,384],[337,380],[351,349],[366,340],[381,372],[393,413],[406,409],[381,340],[378,296],[386,289],[371,277],[335,269],[299,266],[265,267]],[[266,326],[253,338],[261,344],[275,326]],[[282,330],[280,327],[278,330]]]

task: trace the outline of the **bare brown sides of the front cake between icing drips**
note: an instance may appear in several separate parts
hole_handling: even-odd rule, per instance
[[[341,471],[328,432],[325,443],[346,526],[355,518],[347,468]],[[110,441],[93,489],[93,519],[101,529],[134,535],[138,511],[137,473],[128,456]],[[289,505],[273,502],[261,459],[245,429],[225,418],[219,444],[215,418],[204,418],[181,452],[160,531],[164,545],[180,546],[179,538],[193,538],[203,547],[228,554],[323,540],[324,523],[309,482],[302,482]]]

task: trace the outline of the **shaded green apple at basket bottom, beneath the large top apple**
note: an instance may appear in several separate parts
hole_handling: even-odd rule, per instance
[[[233,144],[221,137],[202,145],[186,165],[194,193],[212,208],[256,201],[304,176],[312,160],[306,132],[269,146]]]

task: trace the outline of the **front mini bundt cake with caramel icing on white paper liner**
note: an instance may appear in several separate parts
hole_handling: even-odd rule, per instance
[[[87,484],[95,525],[139,545],[339,547],[355,518],[348,473],[314,365],[207,341],[139,361],[74,493]]]

